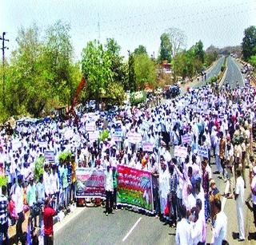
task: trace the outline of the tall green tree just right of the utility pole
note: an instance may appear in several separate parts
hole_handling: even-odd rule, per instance
[[[38,26],[18,31],[18,49],[14,50],[10,65],[13,77],[11,89],[18,97],[17,112],[24,110],[34,117],[42,112],[47,98],[50,96],[50,85],[42,72],[41,58],[43,44],[40,40]]]

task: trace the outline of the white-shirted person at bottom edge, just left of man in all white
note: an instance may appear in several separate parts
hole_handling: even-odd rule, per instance
[[[217,215],[213,228],[211,244],[222,245],[222,242],[226,240],[227,218],[224,211],[222,211],[221,200],[214,200],[214,206],[216,207]]]

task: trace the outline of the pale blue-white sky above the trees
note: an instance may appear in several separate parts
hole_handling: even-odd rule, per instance
[[[256,25],[255,13],[256,0],[0,0],[0,35],[8,33],[12,50],[21,26],[45,30],[61,19],[70,23],[76,59],[95,38],[115,38],[126,57],[140,44],[157,56],[169,27],[185,32],[187,48],[199,39],[205,48],[239,45],[246,27]]]

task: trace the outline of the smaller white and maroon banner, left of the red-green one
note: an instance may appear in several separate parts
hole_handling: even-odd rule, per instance
[[[106,198],[105,169],[78,168],[75,195],[77,198]]]

